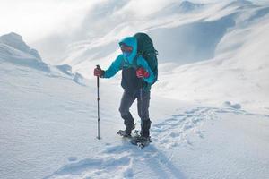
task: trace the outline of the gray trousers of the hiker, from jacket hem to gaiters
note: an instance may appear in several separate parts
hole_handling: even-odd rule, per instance
[[[130,114],[130,107],[137,98],[137,111],[139,117],[144,120],[150,120],[149,107],[151,99],[151,91],[147,90],[136,90],[134,92],[128,92],[125,90],[119,107],[119,112],[121,116],[126,116]]]

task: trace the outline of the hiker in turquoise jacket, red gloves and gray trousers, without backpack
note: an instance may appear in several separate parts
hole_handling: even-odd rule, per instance
[[[137,111],[141,118],[141,136],[150,138],[151,120],[149,105],[151,98],[151,85],[154,82],[154,73],[150,65],[137,53],[137,39],[134,37],[124,38],[119,42],[122,54],[110,65],[108,70],[94,69],[94,75],[101,78],[110,78],[122,70],[121,86],[124,89],[119,107],[121,117],[126,125],[125,136],[131,136],[134,126],[134,118],[129,109],[137,99]]]

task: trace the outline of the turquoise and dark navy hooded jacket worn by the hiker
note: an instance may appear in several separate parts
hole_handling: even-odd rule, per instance
[[[122,81],[121,85],[125,90],[137,90],[143,86],[144,90],[150,90],[152,82],[154,80],[154,74],[150,68],[147,61],[142,55],[137,55],[137,40],[134,37],[127,37],[119,42],[121,44],[126,44],[129,47],[133,47],[131,54],[120,54],[117,56],[116,60],[109,66],[108,70],[104,73],[104,78],[110,78],[114,76],[118,71],[122,70]],[[136,60],[134,60],[137,58]],[[135,62],[136,61],[136,62]],[[144,70],[149,72],[148,78],[143,78],[140,80],[136,77],[136,69],[143,67]]]

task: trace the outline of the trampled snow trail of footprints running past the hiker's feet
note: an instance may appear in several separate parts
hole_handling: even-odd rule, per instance
[[[265,117],[232,107],[195,107],[153,124],[152,143],[144,149],[130,144],[128,139],[118,137],[118,141],[107,142],[105,149],[100,149],[95,158],[70,161],[44,179],[139,178],[137,175],[140,172],[136,167],[143,163],[148,164],[146,167],[159,178],[187,178],[173,163],[174,153],[177,149],[194,149],[196,141],[191,139],[198,136],[204,140],[204,123],[213,125],[221,120],[220,114]],[[266,118],[269,120],[268,116]]]

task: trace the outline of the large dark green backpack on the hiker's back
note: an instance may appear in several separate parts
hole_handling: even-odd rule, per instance
[[[152,84],[158,81],[158,51],[153,47],[152,39],[146,33],[136,33],[134,38],[137,40],[137,55],[142,55],[143,58],[150,65],[150,68],[154,74],[154,80]],[[137,57],[136,57],[137,59]]]

